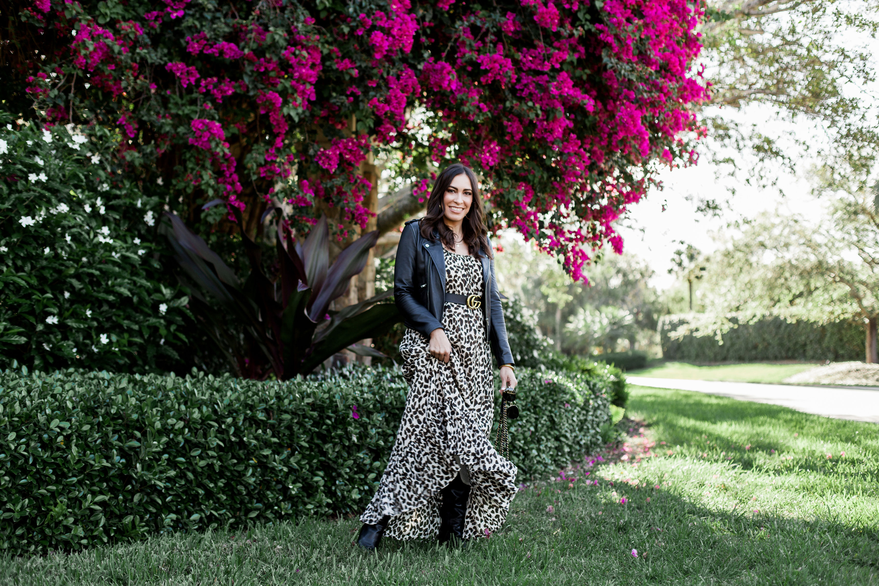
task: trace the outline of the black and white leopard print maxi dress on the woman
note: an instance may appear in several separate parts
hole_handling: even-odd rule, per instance
[[[479,259],[448,250],[445,259],[447,293],[482,294]],[[384,534],[395,539],[437,536],[439,491],[462,466],[470,481],[464,539],[497,531],[516,494],[516,467],[489,440],[494,384],[482,309],[447,302],[443,324],[452,343],[448,364],[427,352],[422,334],[408,329],[403,336],[403,421],[378,492],[360,516],[370,525],[391,516]]]

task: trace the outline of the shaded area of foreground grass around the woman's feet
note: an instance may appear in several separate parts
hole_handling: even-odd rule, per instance
[[[846,523],[803,521],[783,511],[733,514],[673,493],[623,491],[606,482],[580,482],[560,493],[556,485],[520,493],[502,532],[461,548],[385,539],[379,551],[367,553],[352,546],[356,520],[308,519],[250,532],[164,536],[69,556],[6,559],[0,582],[634,586],[876,579],[875,533]],[[628,503],[619,504],[612,490],[626,494]]]

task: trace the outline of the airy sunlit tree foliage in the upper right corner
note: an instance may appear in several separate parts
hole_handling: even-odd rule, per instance
[[[700,28],[712,83],[707,106],[719,107],[701,112],[715,139],[708,154],[760,185],[776,184],[778,163],[793,170],[802,156],[815,157],[839,177],[860,177],[864,188],[879,144],[868,90],[877,8],[875,0],[709,2]],[[769,106],[788,123],[810,120],[817,132],[800,124],[800,134],[770,134],[749,119],[752,105]]]

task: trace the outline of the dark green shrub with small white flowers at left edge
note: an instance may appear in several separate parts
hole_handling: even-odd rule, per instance
[[[19,127],[0,112],[0,368],[178,362],[187,299],[159,282],[158,199],[106,166],[113,148],[101,127]]]

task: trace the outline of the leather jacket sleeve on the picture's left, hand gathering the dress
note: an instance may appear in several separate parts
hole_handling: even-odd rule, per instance
[[[396,307],[403,314],[403,323],[407,328],[421,332],[427,337],[431,336],[434,329],[442,328],[442,323],[433,316],[419,299],[419,283],[417,275],[418,238],[416,230],[418,222],[403,228],[400,243],[396,248],[396,261],[394,263],[394,300]]]

